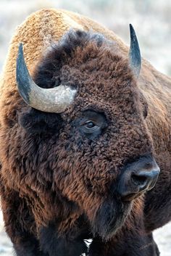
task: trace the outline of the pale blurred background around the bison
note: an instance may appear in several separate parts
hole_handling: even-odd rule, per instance
[[[17,25],[41,8],[62,8],[91,17],[114,30],[129,44],[132,23],[141,54],[157,70],[171,75],[171,1],[170,0],[0,0],[0,73],[10,39]],[[161,256],[171,255],[171,224],[154,232]],[[4,232],[0,211],[0,256],[11,256],[12,244]]]

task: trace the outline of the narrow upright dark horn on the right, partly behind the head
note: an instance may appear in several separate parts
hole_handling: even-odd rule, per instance
[[[129,52],[130,67],[136,78],[141,70],[141,51],[138,45],[138,39],[135,34],[133,25],[130,24],[130,52]]]

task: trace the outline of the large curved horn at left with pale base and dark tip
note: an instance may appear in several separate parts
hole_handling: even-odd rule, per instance
[[[17,87],[22,99],[37,110],[43,112],[61,113],[72,104],[76,90],[68,86],[55,88],[41,88],[34,83],[28,73],[23,56],[22,44],[19,46],[17,56]]]

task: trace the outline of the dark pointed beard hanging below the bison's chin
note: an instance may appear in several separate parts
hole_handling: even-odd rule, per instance
[[[106,199],[97,210],[93,220],[93,236],[99,235],[105,241],[109,240],[119,228],[131,210],[130,202],[121,202],[119,199]]]

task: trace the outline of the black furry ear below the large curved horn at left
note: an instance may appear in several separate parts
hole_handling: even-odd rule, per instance
[[[62,127],[62,117],[59,114],[41,112],[31,108],[22,112],[19,117],[20,125],[28,133],[57,133]]]

